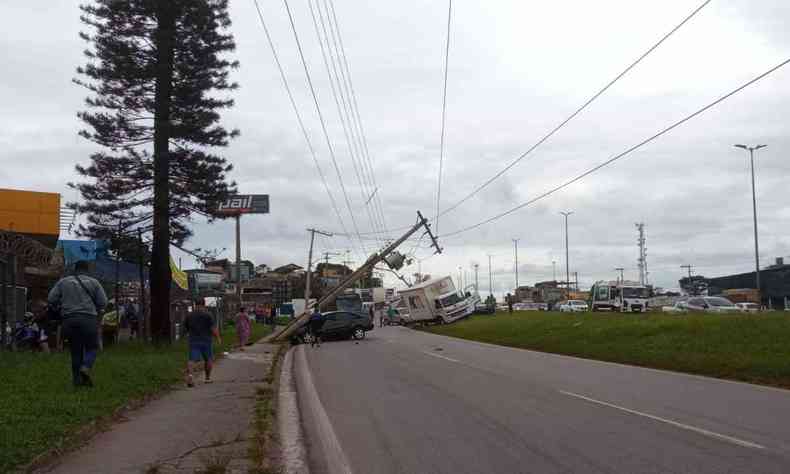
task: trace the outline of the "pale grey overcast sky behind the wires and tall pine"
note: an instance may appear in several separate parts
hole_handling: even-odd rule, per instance
[[[323,0],[322,5],[323,5]],[[319,164],[343,220],[349,210],[279,0],[260,0]],[[0,54],[0,187],[60,192],[74,165],[96,146],[77,136],[85,91],[71,83],[83,63],[79,2],[4,0]],[[701,0],[486,0],[453,2],[441,207],[468,194],[564,120],[696,8]],[[291,2],[360,232],[372,230],[332,98],[307,0]],[[444,1],[335,0],[359,112],[389,228],[433,217],[439,163]],[[306,227],[342,232],[279,78],[252,0],[232,0],[241,68],[237,106],[223,116],[241,137],[224,154],[244,193],[271,195],[271,214],[246,216],[243,256],[256,263],[305,265]],[[790,66],[629,157],[492,224],[482,221],[605,161],[790,57],[790,4],[784,0],[711,2],[695,18],[552,139],[483,192],[443,216],[445,248],[421,264],[432,275],[471,278],[481,265],[488,289],[513,288],[519,238],[521,284],[564,278],[560,211],[569,220],[570,270],[581,286],[637,278],[635,222],[647,230],[650,281],[677,287],[682,264],[706,276],[754,268],[748,154],[734,143],[765,143],[756,159],[761,262],[790,255]],[[233,224],[196,222],[191,247],[227,247]],[[392,233],[396,236],[397,232]],[[426,240],[414,252],[430,255]],[[370,251],[376,240],[365,240]],[[404,252],[414,249],[405,244]],[[346,258],[348,238],[320,238],[317,253]],[[357,264],[363,257],[352,251]],[[184,259],[185,266],[191,265]],[[407,273],[416,272],[415,263]],[[392,281],[388,278],[388,281]]]

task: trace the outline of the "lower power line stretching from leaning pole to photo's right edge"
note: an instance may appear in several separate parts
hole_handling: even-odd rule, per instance
[[[594,166],[593,168],[590,168],[589,170],[587,170],[584,173],[576,176],[575,178],[572,178],[572,179],[570,179],[568,181],[565,181],[564,183],[562,183],[562,184],[550,189],[549,191],[546,191],[543,194],[540,194],[540,195],[530,199],[529,201],[523,202],[523,203],[521,203],[521,204],[519,204],[519,205],[517,205],[517,206],[515,206],[515,207],[513,207],[513,208],[511,208],[511,209],[509,209],[509,210],[507,210],[505,212],[499,213],[499,214],[497,214],[497,215],[495,215],[493,217],[490,217],[490,218],[488,218],[488,219],[486,219],[484,221],[478,222],[477,224],[474,224],[474,225],[471,225],[471,226],[468,226],[468,227],[464,227],[464,228],[456,230],[454,232],[450,232],[448,234],[442,235],[441,237],[442,238],[451,237],[451,236],[454,236],[454,235],[458,235],[458,234],[461,234],[461,233],[464,233],[464,232],[476,229],[476,228],[478,228],[480,226],[483,226],[485,224],[494,222],[495,220],[498,220],[498,219],[500,219],[502,217],[505,217],[505,216],[507,216],[509,214],[512,214],[512,213],[516,212],[517,210],[519,210],[521,208],[524,208],[526,206],[534,204],[535,202],[540,201],[541,199],[544,199],[544,198],[556,193],[557,191],[570,186],[571,184],[573,184],[573,183],[575,183],[575,182],[577,182],[577,181],[579,181],[579,180],[581,180],[581,179],[583,179],[583,178],[595,173],[596,171],[598,171],[601,168],[604,168],[604,167],[614,163],[615,161],[619,160],[620,158],[623,158],[623,157],[629,155],[630,153],[638,150],[639,148],[643,147],[644,145],[652,142],[653,140],[661,137],[662,135],[674,130],[675,128],[677,128],[677,127],[679,127],[681,125],[683,125],[684,123],[686,123],[689,120],[695,118],[696,116],[702,114],[703,112],[707,111],[708,109],[713,108],[714,106],[716,106],[719,103],[727,100],[728,98],[732,97],[733,95],[737,94],[738,92],[742,91],[743,89],[746,89],[747,87],[749,87],[750,85],[752,85],[755,82],[759,81],[760,79],[763,79],[764,77],[768,76],[769,74],[773,73],[774,71],[776,71],[776,70],[782,68],[783,66],[787,65],[787,63],[790,63],[790,59],[786,59],[786,60],[782,61],[778,65],[776,65],[776,66],[772,67],[771,69],[765,71],[764,73],[760,74],[759,76],[751,79],[750,81],[746,82],[745,84],[742,84],[741,86],[737,87],[736,89],[734,89],[734,90],[728,92],[727,94],[719,97],[718,99],[716,99],[713,102],[709,103],[708,105],[702,107],[701,109],[698,109],[696,112],[693,112],[693,113],[685,116],[684,118],[678,120],[677,122],[673,123],[672,125],[664,128],[660,132],[658,132],[658,133],[656,133],[656,134],[654,134],[654,135],[642,140],[641,142],[637,143],[636,145],[628,148],[627,150],[625,150],[624,152],[622,152],[622,153],[620,153],[618,155],[613,156],[612,158],[604,161],[603,163],[600,163],[600,164]]]

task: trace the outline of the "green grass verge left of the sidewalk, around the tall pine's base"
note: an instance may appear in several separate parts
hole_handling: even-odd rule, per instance
[[[269,331],[253,324],[257,340]],[[233,328],[223,331],[221,354],[237,344]],[[21,466],[70,435],[135,399],[183,379],[186,343],[153,347],[138,342],[109,346],[93,371],[96,386],[75,390],[67,353],[0,353],[0,472]]]

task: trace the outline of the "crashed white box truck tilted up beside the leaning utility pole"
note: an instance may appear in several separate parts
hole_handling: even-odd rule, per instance
[[[458,291],[449,276],[418,283],[398,295],[409,309],[408,323],[451,323],[472,314],[480,302],[474,285]]]

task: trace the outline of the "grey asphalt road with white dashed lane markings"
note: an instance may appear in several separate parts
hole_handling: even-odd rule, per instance
[[[314,473],[790,473],[790,391],[397,327],[295,359]]]

